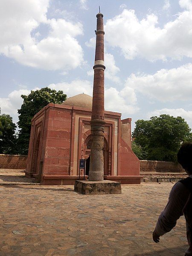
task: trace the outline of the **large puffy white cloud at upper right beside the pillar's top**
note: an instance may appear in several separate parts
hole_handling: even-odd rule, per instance
[[[180,5],[187,10],[163,28],[158,26],[158,17],[154,14],[139,20],[134,10],[124,9],[120,15],[107,20],[105,40],[112,47],[119,47],[127,59],[138,56],[155,61],[192,57],[191,1],[180,0]]]

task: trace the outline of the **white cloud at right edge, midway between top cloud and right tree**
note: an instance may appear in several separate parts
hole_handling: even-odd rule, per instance
[[[131,74],[126,84],[135,91],[161,102],[190,100],[192,96],[192,64],[170,70],[161,69],[153,75]]]

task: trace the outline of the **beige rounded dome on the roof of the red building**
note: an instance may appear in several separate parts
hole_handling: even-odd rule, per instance
[[[66,99],[62,103],[62,105],[75,106],[92,110],[92,97],[87,94],[81,93],[76,96],[70,97],[69,99]]]

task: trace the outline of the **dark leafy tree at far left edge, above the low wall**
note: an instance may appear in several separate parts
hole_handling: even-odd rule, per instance
[[[6,114],[0,115],[0,154],[16,154],[16,125],[12,117]]]

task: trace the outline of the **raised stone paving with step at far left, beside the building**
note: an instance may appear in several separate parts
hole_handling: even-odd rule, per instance
[[[4,184],[34,185],[34,180],[35,179],[26,178],[24,170],[0,169],[0,186]]]

